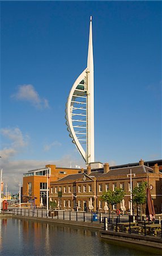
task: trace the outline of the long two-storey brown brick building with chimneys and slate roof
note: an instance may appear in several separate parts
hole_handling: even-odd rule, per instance
[[[104,164],[103,168],[93,169],[88,166],[87,170],[81,170],[80,173],[67,175],[62,179],[50,182],[50,201],[56,201],[59,209],[89,210],[91,203],[93,210],[104,211],[104,202],[100,196],[108,189],[114,190],[121,187],[125,190],[125,198],[121,204],[117,204],[118,209],[128,211],[130,209],[130,169],[135,176],[132,179],[133,188],[143,181],[148,182],[151,189],[151,196],[154,200],[155,212],[161,213],[162,210],[162,172],[161,160],[152,161],[152,167],[144,164],[143,160],[139,163],[127,164],[117,167],[109,167]],[[148,163],[148,162],[147,162]],[[153,166],[154,164],[154,166]],[[58,191],[62,196],[58,197]],[[143,205],[145,208],[145,205]]]

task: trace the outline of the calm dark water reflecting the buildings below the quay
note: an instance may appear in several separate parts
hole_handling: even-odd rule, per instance
[[[2,256],[155,255],[109,243],[94,230],[14,218],[0,219],[0,250]]]

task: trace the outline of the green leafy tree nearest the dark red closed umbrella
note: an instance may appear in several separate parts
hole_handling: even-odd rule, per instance
[[[146,203],[146,187],[147,182],[140,183],[137,187],[133,189],[132,196],[133,196],[133,203],[140,205],[140,218],[142,218],[142,205]]]

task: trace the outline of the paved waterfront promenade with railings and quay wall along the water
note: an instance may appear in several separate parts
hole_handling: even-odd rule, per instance
[[[10,212],[4,212],[4,214],[2,212],[1,216],[96,229],[99,230],[101,238],[145,245],[162,250],[162,223],[161,221],[159,223],[160,216],[156,216],[154,224],[146,221],[132,222],[129,221],[129,216],[120,216],[119,220],[116,214],[114,214],[113,218],[112,216],[109,218],[108,214],[99,213],[95,216],[94,213],[68,212],[64,210],[50,211],[48,216],[45,209],[14,208]],[[107,226],[105,220],[107,221]]]

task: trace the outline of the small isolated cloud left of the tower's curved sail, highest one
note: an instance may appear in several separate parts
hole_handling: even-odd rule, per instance
[[[49,108],[48,100],[41,98],[32,84],[19,85],[18,92],[11,97],[16,100],[28,101],[38,109]]]

